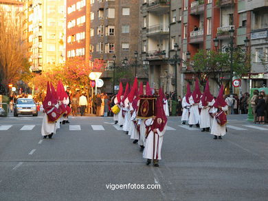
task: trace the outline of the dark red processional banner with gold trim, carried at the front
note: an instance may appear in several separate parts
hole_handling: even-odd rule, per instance
[[[139,107],[137,108],[137,118],[150,119],[155,117],[155,102],[157,96],[155,95],[140,95]]]

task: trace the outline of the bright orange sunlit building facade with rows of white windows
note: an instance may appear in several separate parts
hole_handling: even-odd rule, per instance
[[[66,58],[90,57],[90,2],[67,0],[66,10]]]

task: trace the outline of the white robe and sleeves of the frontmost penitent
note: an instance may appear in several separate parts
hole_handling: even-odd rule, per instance
[[[146,126],[151,126],[153,124],[153,119],[147,119],[145,123]],[[150,130],[148,137],[145,139],[144,158],[161,160],[161,147],[165,130],[166,128],[160,132],[159,129],[157,129],[157,133]]]

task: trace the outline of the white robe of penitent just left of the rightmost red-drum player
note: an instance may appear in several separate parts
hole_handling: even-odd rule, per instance
[[[205,108],[202,104],[202,101],[199,103],[199,108],[201,108],[200,113],[200,128],[210,128],[212,125],[212,117],[210,116],[210,113],[208,113],[208,110],[210,110],[211,106],[213,106],[215,103],[215,100],[212,99],[211,102],[208,102],[207,108]]]

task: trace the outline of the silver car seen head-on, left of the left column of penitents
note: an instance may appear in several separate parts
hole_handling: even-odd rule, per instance
[[[33,115],[34,117],[37,117],[38,111],[34,99],[32,98],[17,99],[16,104],[14,106],[14,117],[18,117],[18,115]]]

